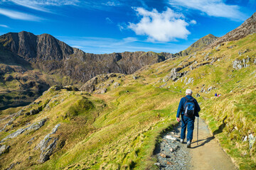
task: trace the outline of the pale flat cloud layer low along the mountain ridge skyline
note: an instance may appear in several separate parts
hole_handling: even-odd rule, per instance
[[[127,37],[121,40],[114,38],[93,38],[93,37],[60,37],[59,40],[66,42],[71,47],[77,47],[84,52],[94,54],[104,54],[112,52],[135,52],[135,51],[154,51],[154,52],[180,52],[189,45],[177,45],[174,43],[150,43],[137,40],[137,38]]]

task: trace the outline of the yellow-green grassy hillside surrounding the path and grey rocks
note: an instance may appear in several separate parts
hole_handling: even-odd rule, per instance
[[[242,142],[242,137],[256,131],[256,81],[253,73],[256,67],[252,63],[255,60],[255,39],[256,34],[249,35],[222,45],[219,51],[197,52],[196,56],[144,67],[135,73],[139,76],[136,80],[132,75],[111,78],[121,85],[108,86],[107,94],[90,96],[79,91],[49,91],[38,98],[41,103],[23,108],[23,113],[50,101],[48,109],[44,108],[37,115],[20,115],[6,128],[7,132],[0,132],[1,140],[27,123],[48,118],[41,129],[4,142],[11,148],[9,153],[0,156],[1,168],[21,162],[16,164],[16,169],[157,169],[152,166],[156,162],[152,157],[154,147],[159,134],[176,123],[176,108],[187,88],[201,94],[197,98],[201,103],[201,115],[240,169],[254,168],[255,147],[249,150],[248,142]],[[231,45],[236,46],[227,48]],[[250,49],[249,52],[238,55],[239,51],[246,49]],[[247,56],[252,61],[250,67],[233,69],[236,58]],[[213,64],[206,64],[211,61]],[[172,68],[189,62],[193,62],[191,66],[195,69],[185,67],[180,71],[189,71],[187,79],[163,81]],[[193,83],[186,84],[185,79],[189,78],[193,78]],[[207,91],[210,86],[215,89]],[[213,97],[216,92],[222,96]],[[4,118],[8,113],[2,111],[0,116]],[[1,127],[7,121],[2,120]],[[55,152],[49,161],[39,164],[40,152],[33,148],[58,123],[61,125],[54,135],[59,138]],[[32,137],[35,140],[28,145],[26,142]]]

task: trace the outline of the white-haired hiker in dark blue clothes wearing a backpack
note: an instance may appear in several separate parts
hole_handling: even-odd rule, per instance
[[[181,143],[184,142],[186,136],[186,128],[188,128],[188,134],[186,137],[188,148],[191,147],[191,141],[193,139],[193,129],[195,116],[199,117],[198,112],[201,111],[200,106],[195,98],[192,97],[191,89],[186,89],[186,96],[181,98],[178,105],[178,111],[176,115],[176,120],[179,122],[181,120]],[[179,118],[181,114],[181,119]]]

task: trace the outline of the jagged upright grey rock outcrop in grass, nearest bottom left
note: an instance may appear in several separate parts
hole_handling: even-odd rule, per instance
[[[36,146],[35,149],[40,149],[41,154],[38,162],[46,162],[50,159],[50,155],[53,154],[53,149],[55,148],[58,138],[57,137],[50,137],[50,135],[55,134],[57,132],[58,128],[60,127],[60,124],[55,125],[52,132],[50,132],[46,137],[39,142],[39,144]]]

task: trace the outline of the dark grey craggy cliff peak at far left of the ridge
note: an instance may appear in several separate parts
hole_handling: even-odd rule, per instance
[[[73,54],[73,48],[57,40],[52,35],[33,35],[22,31],[1,35],[1,44],[27,61],[62,60]]]

